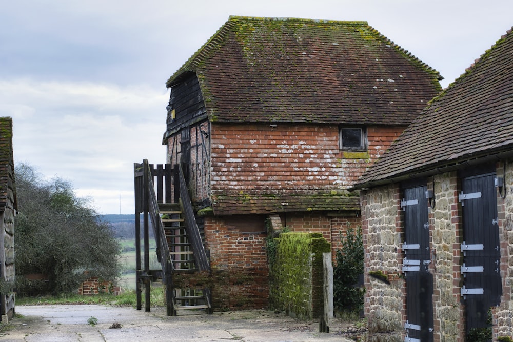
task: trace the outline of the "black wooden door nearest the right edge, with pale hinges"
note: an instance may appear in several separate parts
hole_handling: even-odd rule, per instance
[[[466,330],[491,327],[488,310],[502,294],[495,174],[466,177],[463,212],[463,267]]]

